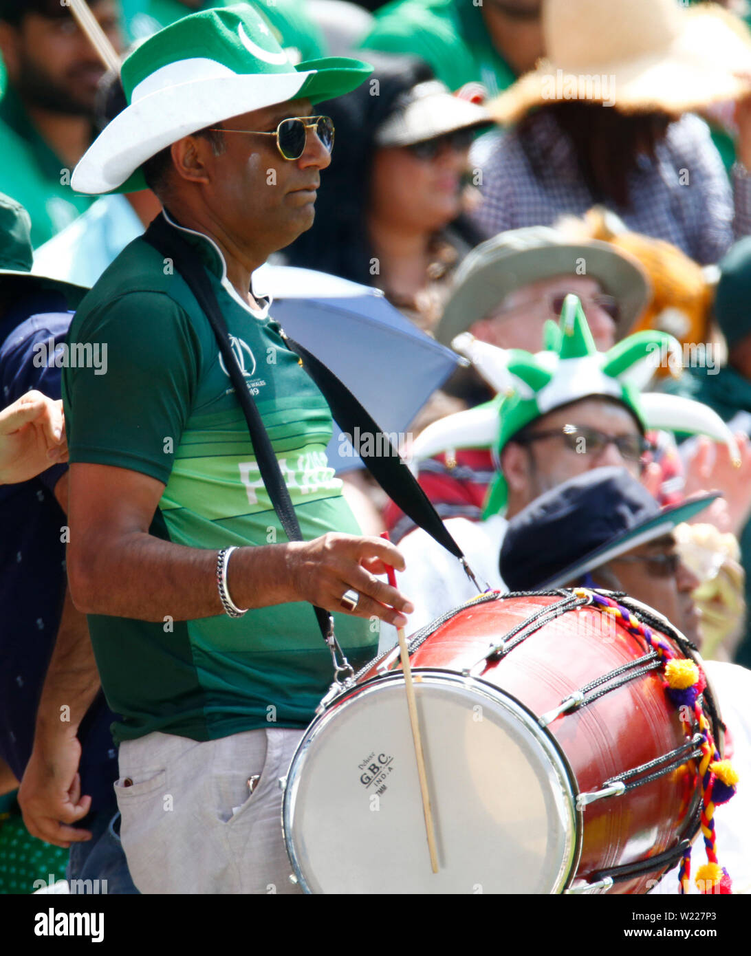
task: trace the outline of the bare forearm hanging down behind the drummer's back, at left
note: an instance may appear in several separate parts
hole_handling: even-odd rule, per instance
[[[97,696],[99,675],[86,617],[66,589],[63,612],[36,711],[37,736],[75,731]]]

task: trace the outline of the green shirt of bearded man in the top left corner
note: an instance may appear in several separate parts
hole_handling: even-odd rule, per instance
[[[0,192],[25,206],[32,217],[34,248],[94,202],[92,196],[75,194],[70,186],[73,170],[39,135],[12,86],[0,100],[0,155]]]

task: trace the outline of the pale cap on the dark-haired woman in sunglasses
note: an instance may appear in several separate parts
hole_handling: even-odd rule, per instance
[[[375,131],[376,146],[412,146],[462,129],[492,123],[483,106],[452,95],[445,83],[429,79],[397,99],[395,110]]]

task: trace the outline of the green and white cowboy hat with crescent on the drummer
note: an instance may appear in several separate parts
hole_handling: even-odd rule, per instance
[[[192,13],[123,62],[128,105],[81,158],[71,185],[89,195],[143,189],[142,163],[183,136],[288,99],[339,97],[371,72],[346,57],[293,65],[249,4]]]

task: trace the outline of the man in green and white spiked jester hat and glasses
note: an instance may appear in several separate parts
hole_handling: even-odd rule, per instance
[[[727,427],[706,406],[639,390],[636,383],[651,377],[648,356],[654,348],[677,347],[675,339],[643,332],[599,353],[573,295],[564,305],[558,333],[557,342],[550,340],[554,347],[537,356],[497,349],[470,336],[459,340],[458,347],[498,397],[429,425],[412,448],[413,461],[422,463],[439,451],[450,456],[462,446],[493,449],[490,489],[474,515],[482,520],[452,517],[451,503],[439,509],[472,568],[492,587],[504,587],[498,554],[508,521],[541,494],[592,468],[620,467],[639,479],[651,450],[648,427],[680,423],[738,452]],[[420,473],[431,496],[429,479],[429,471]],[[467,514],[466,500],[454,514]],[[410,530],[403,516],[394,537],[407,562],[397,581],[416,606],[411,627],[473,597],[456,559],[421,529]],[[383,643],[389,640],[385,634],[382,638]]]

